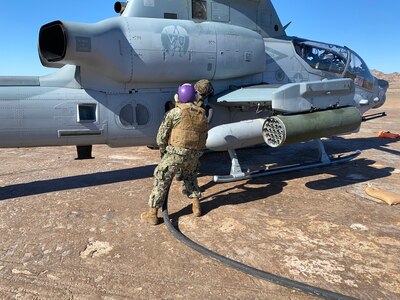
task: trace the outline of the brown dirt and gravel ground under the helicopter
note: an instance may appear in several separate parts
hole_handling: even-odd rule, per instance
[[[400,96],[359,133],[324,140],[353,161],[215,184],[226,153],[202,159],[201,218],[174,182],[171,219],[196,242],[258,269],[359,299],[400,299],[400,205],[365,193],[400,194]],[[178,242],[164,224],[140,222],[157,151],[94,146],[0,149],[1,299],[314,299],[246,275]],[[313,143],[238,151],[245,168],[317,156]]]

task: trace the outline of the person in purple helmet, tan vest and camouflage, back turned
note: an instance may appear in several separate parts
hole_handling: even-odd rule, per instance
[[[158,130],[161,161],[154,171],[149,210],[141,214],[141,219],[147,223],[158,224],[158,209],[163,206],[177,171],[181,172],[186,195],[192,199],[193,215],[201,216],[197,171],[207,140],[207,120],[205,110],[195,105],[195,100],[193,85],[179,86],[175,95],[177,105],[165,115]]]

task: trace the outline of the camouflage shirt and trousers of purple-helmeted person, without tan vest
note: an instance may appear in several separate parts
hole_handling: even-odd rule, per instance
[[[153,190],[149,198],[149,206],[152,208],[162,207],[168,186],[178,171],[182,174],[186,195],[189,198],[201,196],[197,173],[199,158],[203,155],[203,151],[169,145],[171,131],[181,121],[181,116],[182,110],[179,107],[173,108],[167,113],[158,130],[157,144],[160,147],[162,158],[154,171]]]

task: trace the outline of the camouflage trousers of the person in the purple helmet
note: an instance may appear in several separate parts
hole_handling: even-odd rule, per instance
[[[197,173],[199,172],[199,159],[202,154],[202,151],[195,150],[188,151],[185,154],[167,151],[154,170],[154,183],[149,198],[149,206],[157,208],[163,206],[168,187],[178,171],[181,173],[186,195],[189,198],[200,197]]]

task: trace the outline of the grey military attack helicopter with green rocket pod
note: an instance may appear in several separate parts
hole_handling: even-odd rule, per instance
[[[268,0],[129,0],[98,23],[54,21],[39,31],[44,76],[0,77],[0,147],[156,147],[177,87],[208,79],[206,147],[228,151],[217,182],[350,160],[322,137],[357,131],[383,105],[388,82],[353,50],[287,36]],[[372,117],[375,117],[374,115]],[[312,164],[242,171],[236,149],[315,140]]]

